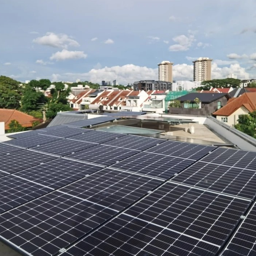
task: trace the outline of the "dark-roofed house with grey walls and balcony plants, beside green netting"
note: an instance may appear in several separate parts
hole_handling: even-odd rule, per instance
[[[199,99],[199,104],[195,99]],[[192,92],[177,98],[181,107],[169,107],[169,113],[184,115],[211,115],[227,104],[230,96],[226,93],[198,93]]]

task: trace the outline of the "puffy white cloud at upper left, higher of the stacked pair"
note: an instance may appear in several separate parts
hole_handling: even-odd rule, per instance
[[[33,42],[63,49],[67,49],[69,46],[80,46],[77,41],[66,34],[55,34],[52,32],[47,32],[45,36],[35,38]]]

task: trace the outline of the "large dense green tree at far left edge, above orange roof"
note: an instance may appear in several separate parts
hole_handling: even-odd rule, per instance
[[[0,76],[0,108],[19,108],[21,93],[20,82],[3,75]]]

